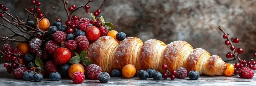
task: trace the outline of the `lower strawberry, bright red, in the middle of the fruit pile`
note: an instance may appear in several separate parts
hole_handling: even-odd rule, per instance
[[[58,48],[53,53],[53,62],[56,65],[64,65],[71,58],[71,52],[67,48]]]

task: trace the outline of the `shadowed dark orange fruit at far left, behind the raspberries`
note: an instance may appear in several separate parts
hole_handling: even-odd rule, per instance
[[[29,44],[27,43],[18,43],[17,48],[19,52],[22,54],[22,56],[25,56],[30,52]]]

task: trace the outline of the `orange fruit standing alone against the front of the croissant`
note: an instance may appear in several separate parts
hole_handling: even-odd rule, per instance
[[[131,78],[135,75],[136,73],[136,68],[132,64],[128,64],[123,67],[122,69],[122,74],[125,78]]]

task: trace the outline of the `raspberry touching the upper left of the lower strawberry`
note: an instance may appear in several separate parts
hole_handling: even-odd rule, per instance
[[[66,39],[66,38],[65,38]],[[57,48],[59,48],[60,46],[58,46],[57,43],[53,42],[52,40],[49,40],[46,44],[45,44],[45,50],[49,53],[52,54]]]

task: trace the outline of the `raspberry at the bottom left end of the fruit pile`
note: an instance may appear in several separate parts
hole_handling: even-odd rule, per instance
[[[13,76],[15,79],[23,79],[23,73],[28,71],[26,67],[19,67],[13,71]]]

